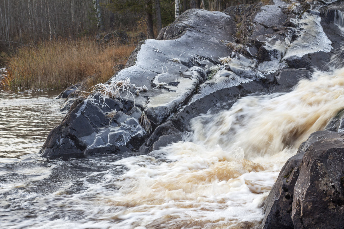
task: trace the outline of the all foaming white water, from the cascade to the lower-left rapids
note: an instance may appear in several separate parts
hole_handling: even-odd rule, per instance
[[[7,228],[257,228],[282,165],[343,107],[344,68],[315,72],[292,92],[247,96],[229,110],[200,115],[191,121],[189,140],[148,155],[85,159],[77,168],[92,169],[82,175],[70,161],[50,162],[52,174],[73,171],[78,180],[66,179],[63,188],[45,194],[20,191],[25,198],[9,202],[16,199],[14,205],[30,217],[1,223]],[[27,185],[21,182],[3,186],[10,193]],[[11,214],[7,208],[3,211]]]

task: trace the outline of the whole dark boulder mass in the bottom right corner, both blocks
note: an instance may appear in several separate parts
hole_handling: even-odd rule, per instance
[[[266,199],[261,228],[342,228],[343,143],[343,134],[326,130],[301,144]]]

